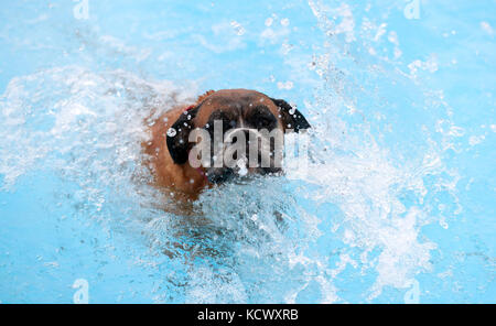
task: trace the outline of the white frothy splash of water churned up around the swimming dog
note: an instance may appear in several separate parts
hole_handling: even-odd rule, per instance
[[[460,176],[444,159],[463,130],[442,91],[420,85],[436,70],[435,57],[403,64],[401,39],[384,22],[339,1],[310,7],[327,39],[309,63],[321,83],[303,108],[314,130],[302,180],[225,185],[205,192],[194,216],[166,214],[147,186],[141,142],[153,118],[196,91],[71,66],[14,78],[1,97],[2,188],[45,170],[60,176],[67,185],[60,198],[75,215],[147,243],[136,263],[157,275],[157,302],[374,302],[387,289],[410,287],[431,269],[436,248],[421,228],[449,227],[445,217],[462,209]],[[292,24],[281,20],[282,36]],[[236,34],[233,28],[213,31]],[[260,37],[276,42],[273,33]],[[249,33],[241,34],[220,52],[242,48]],[[410,119],[416,115],[425,119]],[[442,209],[440,195],[449,198]],[[355,296],[351,283],[359,284]]]

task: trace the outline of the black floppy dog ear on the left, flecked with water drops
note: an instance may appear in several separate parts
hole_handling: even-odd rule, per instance
[[[168,130],[168,149],[175,164],[187,162],[192,144],[188,141],[190,132],[195,128],[193,119],[198,112],[200,106],[184,111]]]

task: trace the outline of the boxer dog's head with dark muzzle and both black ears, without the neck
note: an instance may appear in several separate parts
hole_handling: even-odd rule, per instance
[[[209,94],[181,115],[166,142],[174,163],[185,164],[195,149],[192,132],[202,131],[201,141],[207,142],[202,166],[211,183],[222,183],[236,175],[280,172],[284,132],[309,128],[301,112],[284,100],[227,89]]]

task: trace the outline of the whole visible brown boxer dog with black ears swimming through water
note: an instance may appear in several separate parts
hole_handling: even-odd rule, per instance
[[[268,138],[268,133],[261,130],[270,134],[280,131],[283,135],[285,132],[300,132],[310,128],[303,115],[287,101],[248,89],[207,91],[195,104],[173,108],[151,124],[151,140],[143,145],[154,185],[173,193],[175,199],[188,202],[195,200],[203,189],[228,182],[237,175],[279,173],[281,166],[277,166],[274,157],[277,141],[261,144]],[[204,145],[208,145],[201,154],[201,164],[193,162],[196,156],[192,155],[195,150],[195,142],[192,141],[194,131],[202,131],[200,138]],[[244,138],[245,142],[254,144],[255,140],[260,146],[255,151],[235,153],[236,164],[229,166],[219,160],[224,156],[223,151],[226,151],[222,146],[220,150],[218,146],[216,149],[219,133],[220,142]],[[266,166],[239,166],[239,160],[241,163],[251,162],[252,159],[260,162],[262,151],[269,152]],[[240,170],[244,172],[238,173]]]

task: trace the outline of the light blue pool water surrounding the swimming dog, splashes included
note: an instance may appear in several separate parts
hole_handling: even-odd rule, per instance
[[[494,1],[84,2],[0,8],[0,303],[495,303]],[[310,169],[155,208],[148,112],[238,87]]]

